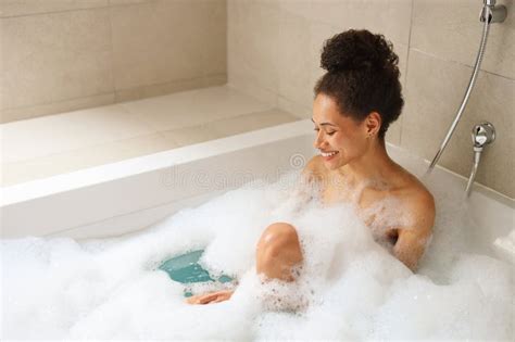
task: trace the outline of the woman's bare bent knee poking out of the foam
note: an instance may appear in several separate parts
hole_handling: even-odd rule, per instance
[[[296,228],[286,223],[269,225],[258,242],[255,259],[258,274],[293,281],[291,269],[303,259]]]

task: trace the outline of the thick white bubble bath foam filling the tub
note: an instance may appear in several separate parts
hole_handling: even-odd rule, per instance
[[[467,251],[463,237],[472,223],[453,189],[428,181],[437,199],[435,238],[413,275],[374,242],[352,206],[291,198],[296,180],[254,182],[129,238],[2,241],[1,338],[513,337],[513,267]],[[263,283],[255,275],[255,244],[274,221],[299,232],[304,264],[294,283]],[[230,301],[188,305],[184,286],[155,270],[200,248],[204,267],[238,279]]]

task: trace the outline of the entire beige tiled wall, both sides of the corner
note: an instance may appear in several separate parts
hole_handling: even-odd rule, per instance
[[[477,87],[441,164],[467,176],[472,125],[498,139],[482,182],[515,197],[513,0],[491,27]],[[406,106],[387,139],[431,159],[463,98],[481,24],[469,0],[2,0],[1,122],[229,83],[311,116],[323,41],[348,28],[385,34]],[[9,49],[5,49],[9,47]],[[228,50],[226,52],[226,49]]]

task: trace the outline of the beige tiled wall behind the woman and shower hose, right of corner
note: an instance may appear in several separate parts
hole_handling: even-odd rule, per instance
[[[493,24],[469,104],[440,164],[468,177],[470,130],[497,128],[477,180],[515,198],[515,8]],[[432,159],[463,99],[481,35],[482,1],[472,0],[227,0],[229,84],[311,117],[323,41],[348,28],[390,39],[400,58],[406,105],[387,140]]]

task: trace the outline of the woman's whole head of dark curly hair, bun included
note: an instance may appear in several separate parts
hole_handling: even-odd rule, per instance
[[[315,85],[344,113],[362,122],[370,112],[381,116],[379,138],[401,114],[404,100],[399,81],[399,58],[390,41],[368,30],[350,29],[326,40],[321,66],[327,73]]]

